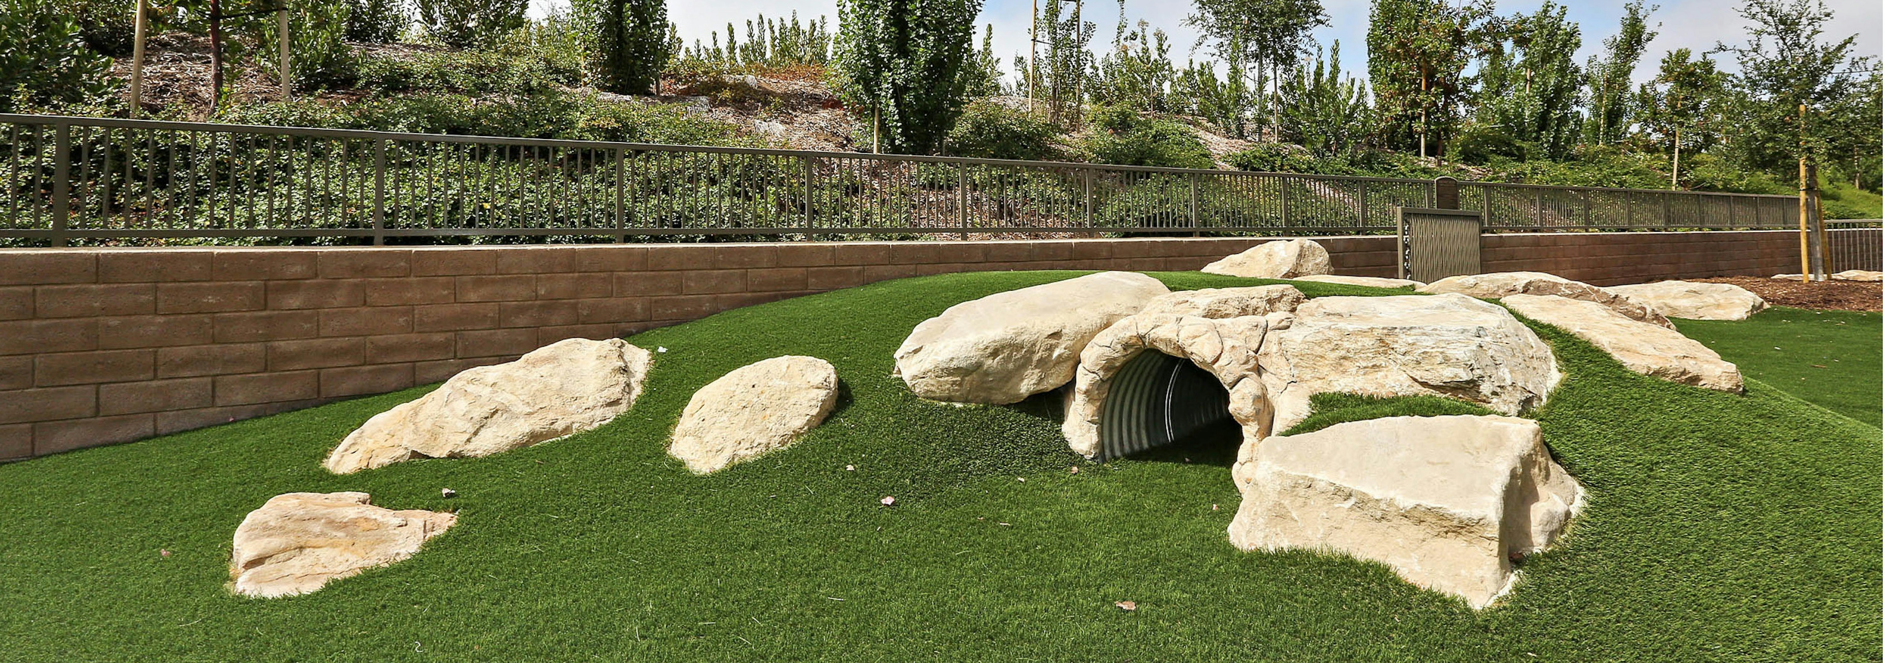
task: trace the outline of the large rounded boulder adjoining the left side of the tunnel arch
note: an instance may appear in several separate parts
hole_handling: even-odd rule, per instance
[[[1167,292],[1142,273],[1103,271],[963,301],[903,339],[895,375],[927,399],[1020,403],[1071,382],[1086,341]]]

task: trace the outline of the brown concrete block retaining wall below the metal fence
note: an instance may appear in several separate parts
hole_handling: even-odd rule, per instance
[[[1393,237],[1316,237],[1395,275]],[[1267,239],[0,251],[0,460],[437,382],[856,284],[990,269],[1197,269]],[[1487,235],[1487,271],[1597,284],[1798,271],[1789,232]]]

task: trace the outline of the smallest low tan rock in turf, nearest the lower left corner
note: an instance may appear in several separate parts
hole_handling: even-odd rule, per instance
[[[368,493],[283,493],[236,527],[230,580],[245,597],[287,597],[411,558],[458,522],[434,510],[373,507]]]

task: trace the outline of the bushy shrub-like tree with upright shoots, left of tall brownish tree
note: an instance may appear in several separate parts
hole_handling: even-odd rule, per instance
[[[1342,41],[1329,60],[1316,53],[1314,72],[1299,66],[1278,87],[1278,136],[1318,154],[1348,153],[1369,137],[1369,87],[1342,75]]]

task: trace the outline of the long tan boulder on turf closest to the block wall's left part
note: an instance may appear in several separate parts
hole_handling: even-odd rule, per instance
[[[466,369],[369,418],[326,467],[347,475],[413,458],[479,458],[592,429],[635,405],[648,358],[622,339],[566,339]]]

